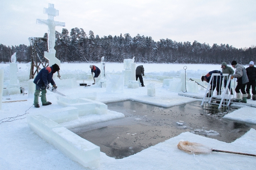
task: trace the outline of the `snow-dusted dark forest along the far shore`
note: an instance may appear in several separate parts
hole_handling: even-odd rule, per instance
[[[47,37],[47,33],[44,34]],[[152,37],[137,34],[131,37],[129,33],[120,36],[94,36],[92,31],[87,35],[82,28],[72,28],[70,33],[63,28],[55,33],[56,57],[61,62],[100,62],[105,56],[106,62],[122,63],[124,59],[135,57],[137,63],[192,63],[220,64],[225,61],[230,64],[236,60],[241,64],[249,64],[256,57],[256,47],[235,48],[228,44],[176,42],[171,39],[154,41]],[[47,44],[38,43],[40,51],[47,51]],[[18,62],[30,62],[30,46],[8,46],[0,44],[0,62],[8,63],[11,56],[17,52]],[[40,55],[40,54],[39,54]],[[42,56],[42,55],[40,55]]]

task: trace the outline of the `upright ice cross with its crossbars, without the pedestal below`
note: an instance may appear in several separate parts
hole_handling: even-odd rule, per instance
[[[44,8],[44,14],[48,15],[48,19],[36,19],[36,24],[48,25],[48,51],[55,53],[55,26],[65,26],[65,22],[54,21],[54,17],[59,16],[59,10],[54,8],[54,4],[48,4],[48,8]]]

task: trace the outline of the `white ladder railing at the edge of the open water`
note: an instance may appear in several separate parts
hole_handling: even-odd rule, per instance
[[[229,83],[231,82],[231,75],[228,77],[228,74],[222,74],[222,76],[223,76],[223,79],[221,78],[221,75],[220,74],[217,74],[217,73],[213,73],[212,74],[212,76],[211,76],[211,79],[210,79],[210,81],[209,81],[209,84],[208,84],[208,86],[207,86],[207,89],[206,89],[206,91],[205,91],[205,94],[204,94],[204,98],[203,98],[203,101],[202,101],[202,103],[201,103],[201,106],[203,106],[203,104],[204,104],[204,102],[206,103],[207,101],[208,101],[208,103],[211,103],[211,104],[219,104],[219,103],[212,103],[211,101],[212,101],[212,97],[214,97],[214,98],[216,98],[216,99],[219,99],[220,100],[220,104],[219,104],[219,108],[221,108],[221,106],[228,106],[229,104],[230,104],[230,99],[231,99],[231,97],[232,97],[232,95],[231,95],[231,92],[228,92],[229,90],[228,90],[228,85],[229,85]],[[222,80],[224,80],[225,79],[225,77],[227,77],[227,85],[226,85],[226,88],[224,88],[224,81],[222,81]],[[216,78],[216,88],[218,88],[217,87],[217,80],[218,80],[218,78],[220,78],[220,84],[221,84],[221,82],[222,82],[222,85],[219,85],[219,94],[218,95],[216,95],[217,94],[217,89],[214,89],[214,91],[215,91],[215,93],[214,93],[214,91],[212,90],[212,93],[211,94],[209,94],[209,95],[211,95],[211,97],[210,97],[210,99],[208,98],[208,97],[206,97],[207,96],[207,92],[209,92],[209,88],[211,87],[211,85],[212,85],[212,87],[213,87],[213,81],[212,81],[212,79],[215,79]],[[234,78],[234,82],[235,82],[235,78]],[[230,85],[230,88],[231,88],[231,85]],[[223,90],[224,89],[224,90]],[[231,90],[230,90],[231,91]],[[220,94],[220,92],[221,92],[221,94]],[[234,98],[234,94],[235,94],[235,83],[234,83],[234,93],[233,93],[233,98]],[[225,104],[226,103],[226,104]]]

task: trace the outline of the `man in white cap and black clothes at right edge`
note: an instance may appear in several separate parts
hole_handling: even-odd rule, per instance
[[[253,61],[250,62],[249,67],[246,68],[249,82],[246,84],[247,99],[251,99],[250,88],[252,86],[252,100],[256,100],[256,68],[253,66]]]

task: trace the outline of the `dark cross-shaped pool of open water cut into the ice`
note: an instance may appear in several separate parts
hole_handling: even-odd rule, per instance
[[[236,108],[200,104],[164,108],[130,100],[108,103],[109,110],[123,113],[125,118],[70,130],[100,146],[109,157],[121,159],[186,131],[230,143],[256,128],[222,119]]]

